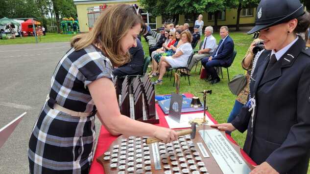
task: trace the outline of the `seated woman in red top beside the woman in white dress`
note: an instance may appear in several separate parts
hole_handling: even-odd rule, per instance
[[[169,33],[169,39],[171,40],[170,43],[165,45],[165,51],[159,52],[155,54],[152,58],[152,71],[149,73],[150,77],[157,76],[159,73],[157,72],[158,63],[162,56],[172,56],[175,53],[177,44],[180,40],[181,31],[177,30],[175,33]]]

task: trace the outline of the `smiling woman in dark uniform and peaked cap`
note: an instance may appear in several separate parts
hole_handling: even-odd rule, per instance
[[[265,50],[255,58],[250,106],[214,127],[247,130],[243,150],[258,164],[250,174],[307,174],[310,49],[296,33],[306,31],[310,15],[299,0],[261,0],[257,9],[248,34],[260,32]]]

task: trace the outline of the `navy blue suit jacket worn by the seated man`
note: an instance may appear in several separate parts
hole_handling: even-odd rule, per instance
[[[216,50],[212,54],[212,60],[220,60],[221,65],[231,65],[233,59],[233,52],[234,52],[234,41],[228,35],[227,38],[224,40],[224,43],[221,45],[223,40],[221,39],[218,43]],[[216,54],[216,51],[217,55]]]

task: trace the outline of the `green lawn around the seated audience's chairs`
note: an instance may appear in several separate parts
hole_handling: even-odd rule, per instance
[[[213,35],[216,38],[217,43],[220,40],[219,34]],[[245,71],[241,67],[241,61],[248,49],[248,46],[252,43],[253,39],[251,35],[247,35],[245,33],[230,33],[230,36],[233,38],[235,43],[235,50],[237,51],[237,56],[234,60],[234,63],[231,67],[229,67],[229,77],[232,79],[235,75],[239,73],[244,73]],[[204,37],[200,39],[203,41]],[[145,40],[142,38],[143,43],[143,50],[145,55],[148,54],[148,45]],[[197,48],[198,48],[197,44]],[[215,118],[215,120],[219,123],[226,123],[228,115],[231,109],[234,106],[236,96],[232,94],[227,86],[228,77],[226,68],[223,68],[223,79],[215,85],[210,85],[205,80],[199,78],[199,68],[200,63],[198,63],[197,70],[195,70],[195,66],[191,69],[191,86],[189,86],[188,80],[185,80],[184,77],[181,78],[181,85],[180,85],[180,93],[195,93],[197,91],[201,91],[204,89],[212,89],[212,95],[207,96],[207,104],[208,104],[208,111],[211,115]],[[173,78],[173,77],[172,77]],[[152,81],[155,81],[157,78],[153,77]],[[156,94],[167,94],[175,91],[175,87],[173,87],[173,79],[170,82],[170,75],[163,78],[163,84],[156,86]],[[200,94],[199,94],[200,95]],[[202,97],[202,94],[201,96]],[[232,137],[235,141],[238,142],[240,147],[243,147],[244,140],[245,140],[246,132],[243,134],[234,131],[232,133]]]

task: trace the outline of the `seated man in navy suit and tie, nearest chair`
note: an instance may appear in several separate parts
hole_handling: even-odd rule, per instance
[[[219,31],[222,39],[219,41],[215,52],[209,58],[204,58],[201,61],[211,78],[210,84],[216,84],[220,81],[214,67],[228,65],[233,58],[234,41],[228,34],[228,27],[222,26]]]

